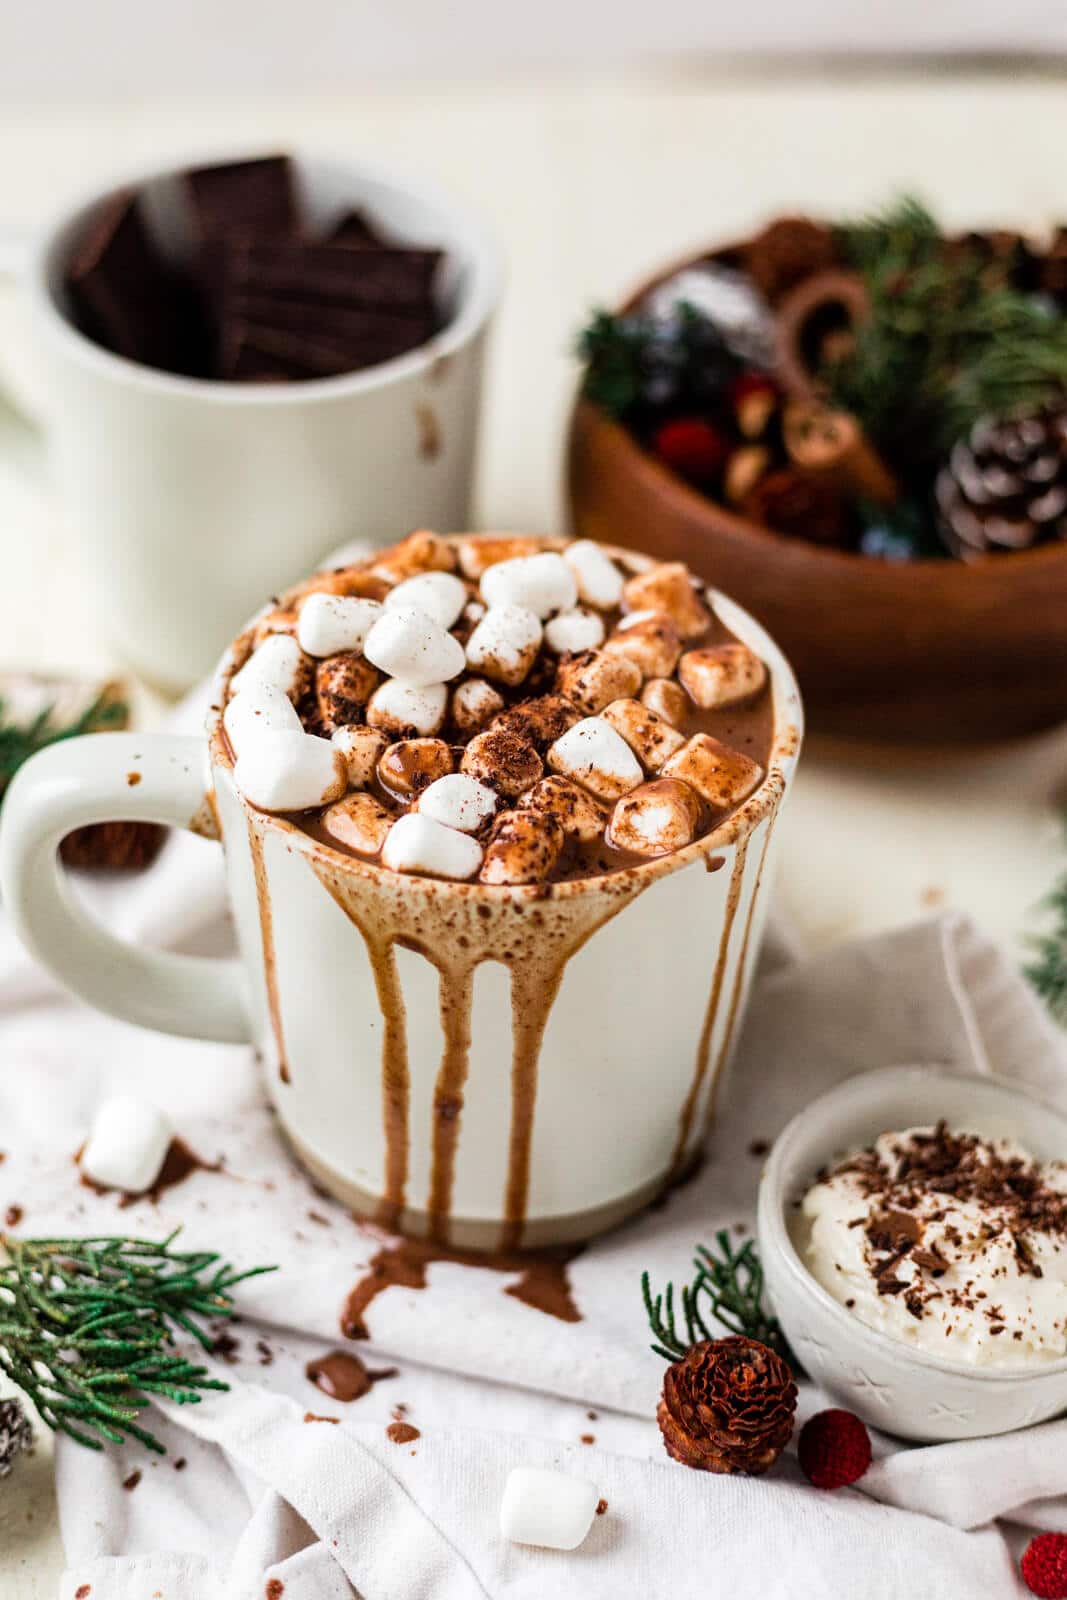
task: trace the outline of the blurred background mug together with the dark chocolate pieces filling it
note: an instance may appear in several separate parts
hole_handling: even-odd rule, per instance
[[[66,206],[22,277],[21,403],[150,682],[195,682],[357,533],[466,525],[499,262],[432,186],[312,157],[138,176]]]

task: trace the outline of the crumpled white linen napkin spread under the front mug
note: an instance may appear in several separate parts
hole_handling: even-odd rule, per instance
[[[194,704],[186,718],[197,715]],[[174,837],[149,874],[91,898],[126,936],[224,942],[219,851],[202,840]],[[761,1480],[689,1472],[665,1458],[654,1424],[662,1362],[648,1349],[640,1274],[681,1280],[697,1240],[752,1227],[752,1147],[801,1104],[904,1061],[997,1070],[1067,1104],[1064,1038],[963,918],[808,962],[769,949],[707,1165],[571,1262],[582,1320],[514,1298],[515,1275],[432,1264],[426,1288],[390,1286],[371,1302],[371,1342],[349,1347],[398,1374],[347,1406],[304,1368],[344,1346],[346,1296],[386,1242],[296,1166],[251,1051],[96,1016],[32,966],[6,925],[0,1042],[0,1216],[21,1208],[32,1235],[162,1237],[181,1224],[190,1248],[280,1267],[240,1293],[238,1347],[221,1363],[230,1392],[155,1408],[166,1458],[58,1442],[62,1600],[542,1600],[550,1589],[560,1600],[992,1600],[1025,1592],[1011,1525],[1067,1530],[1067,1421],[928,1448],[878,1437],[859,1488],[833,1494],[813,1490],[792,1454]],[[122,1211],[80,1186],[72,1155],[98,1096],[118,1088],[157,1099],[222,1168]],[[406,1445],[386,1435],[398,1402],[421,1434]],[[801,1387],[801,1418],[824,1403]],[[339,1426],[314,1419],[325,1416]],[[608,1502],[571,1555],[498,1533],[509,1469],[539,1462],[592,1478]]]

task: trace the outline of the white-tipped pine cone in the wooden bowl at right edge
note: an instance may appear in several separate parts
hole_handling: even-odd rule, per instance
[[[976,422],[934,493],[941,536],[963,560],[1067,539],[1067,408]]]

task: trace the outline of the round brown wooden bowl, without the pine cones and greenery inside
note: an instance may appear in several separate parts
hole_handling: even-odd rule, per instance
[[[568,499],[576,534],[686,562],[750,610],[822,733],[965,742],[1067,718],[1067,544],[969,563],[808,544],[689,488],[581,397]]]

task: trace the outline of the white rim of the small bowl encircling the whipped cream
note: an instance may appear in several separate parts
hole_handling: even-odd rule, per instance
[[[766,1258],[773,1251],[800,1291],[835,1320],[843,1339],[851,1341],[853,1344],[867,1346],[880,1355],[907,1360],[915,1366],[926,1368],[931,1373],[941,1373],[950,1378],[966,1378],[982,1384],[1017,1384],[1062,1378],[1067,1374],[1067,1354],[1061,1355],[1054,1362],[1045,1362],[1040,1366],[1019,1365],[989,1368],[971,1365],[968,1362],[952,1362],[941,1355],[931,1355],[928,1350],[905,1344],[904,1339],[894,1339],[891,1334],[881,1333],[878,1328],[870,1328],[859,1317],[854,1317],[849,1310],[846,1310],[845,1306],[841,1306],[841,1302],[819,1283],[809,1267],[805,1266],[792,1240],[789,1224],[785,1221],[785,1203],[789,1195],[785,1194],[782,1179],[782,1168],[792,1154],[792,1147],[809,1131],[811,1123],[817,1123],[819,1118],[827,1118],[827,1114],[837,1112],[840,1102],[856,1093],[856,1085],[881,1082],[889,1086],[902,1083],[905,1078],[917,1077],[920,1074],[926,1082],[929,1082],[929,1078],[950,1078],[957,1083],[977,1082],[992,1088],[1005,1099],[1016,1104],[1022,1102],[1029,1109],[1045,1112],[1061,1125],[1064,1131],[1064,1147],[1067,1149],[1067,1115],[1040,1096],[1030,1094],[1029,1090],[1024,1090],[1019,1083],[998,1077],[997,1074],[958,1072],[950,1067],[921,1066],[918,1062],[875,1067],[870,1072],[857,1072],[827,1090],[825,1094],[819,1094],[817,1099],[811,1101],[803,1110],[797,1112],[797,1115],[785,1123],[771,1147],[766,1166],[763,1168],[763,1176],[760,1178],[758,1192],[758,1240],[765,1267]],[[785,1334],[789,1336],[787,1328]]]

